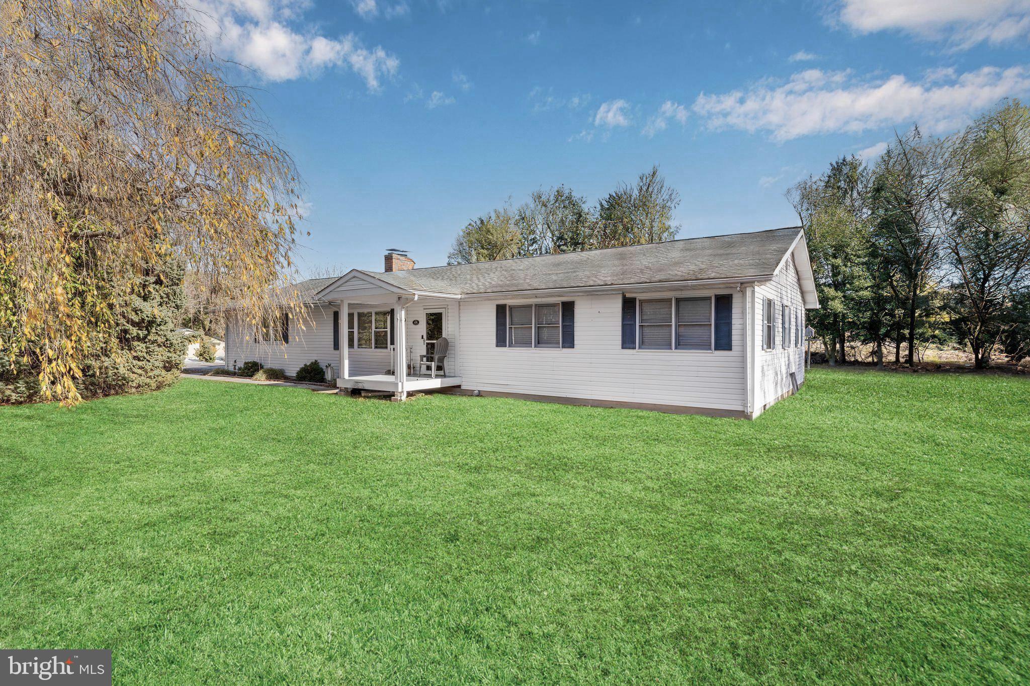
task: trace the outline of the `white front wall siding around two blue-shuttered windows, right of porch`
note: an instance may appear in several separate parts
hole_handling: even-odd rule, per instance
[[[462,300],[461,387],[626,403],[742,411],[746,406],[744,294],[715,290],[627,293],[660,298],[731,294],[733,349],[728,351],[623,350],[621,294]],[[499,303],[576,301],[576,347],[495,347]]]

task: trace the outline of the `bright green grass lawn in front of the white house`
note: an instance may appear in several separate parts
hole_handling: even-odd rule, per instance
[[[1030,381],[757,421],[187,380],[0,408],[0,647],[116,684],[1017,683]]]

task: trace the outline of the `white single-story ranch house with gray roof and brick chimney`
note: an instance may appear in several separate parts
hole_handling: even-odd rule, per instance
[[[340,388],[398,400],[460,388],[754,418],[803,382],[819,307],[797,227],[419,269],[391,251],[384,267],[299,284],[303,330],[230,317],[227,363],[318,359]],[[431,375],[418,357],[441,338]]]

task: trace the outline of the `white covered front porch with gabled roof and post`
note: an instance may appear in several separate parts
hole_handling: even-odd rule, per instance
[[[353,270],[318,297],[339,312],[339,388],[409,392],[461,385],[456,297],[405,290]],[[442,352],[434,366],[422,355]]]

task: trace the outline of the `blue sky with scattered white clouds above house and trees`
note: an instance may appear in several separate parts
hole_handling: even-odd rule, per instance
[[[304,178],[306,268],[441,265],[509,198],[652,164],[682,238],[789,226],[835,157],[1030,92],[1030,0],[194,1]]]

